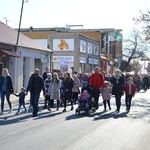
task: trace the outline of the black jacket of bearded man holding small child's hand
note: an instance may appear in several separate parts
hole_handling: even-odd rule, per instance
[[[34,74],[31,75],[28,82],[27,92],[30,91],[31,93],[40,93],[41,90],[43,90],[45,94],[43,78],[41,76],[34,76]]]

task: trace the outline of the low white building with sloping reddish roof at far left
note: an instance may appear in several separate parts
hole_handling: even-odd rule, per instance
[[[51,50],[36,43],[22,33],[16,45],[18,32],[0,22],[0,73],[2,68],[9,69],[14,90],[20,91],[27,86],[30,75],[35,68],[45,71],[50,67]]]

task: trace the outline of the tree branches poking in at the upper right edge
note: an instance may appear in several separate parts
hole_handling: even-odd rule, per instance
[[[144,40],[150,41],[150,10],[143,12],[140,10],[140,16],[133,18],[136,24],[143,23],[143,35],[145,36]]]

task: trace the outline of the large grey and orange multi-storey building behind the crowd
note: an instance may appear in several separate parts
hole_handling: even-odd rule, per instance
[[[36,40],[42,45],[53,50],[53,59],[51,63],[51,68],[59,69],[58,63],[54,58],[56,56],[73,56],[74,62],[69,63],[70,68],[79,70],[79,72],[89,72],[93,70],[95,65],[99,65],[101,71],[107,73],[113,73],[116,68],[119,68],[121,64],[121,54],[122,54],[122,34],[121,30],[116,29],[66,29],[66,28],[30,28],[30,29],[21,29],[21,32],[26,36]],[[76,35],[76,36],[75,36]],[[72,39],[74,43],[74,50],[71,51],[58,51],[54,49],[53,44],[56,44],[54,41],[60,40],[61,38]],[[78,40],[77,40],[78,39]],[[84,44],[86,45],[86,52],[82,53],[78,48],[80,48],[80,40],[84,39]],[[94,52],[91,54],[88,53],[88,43],[98,45],[99,53],[98,57],[94,55]],[[58,43],[57,43],[58,44]],[[77,50],[78,49],[78,50]],[[78,54],[76,52],[79,52]],[[84,58],[83,57],[86,58]],[[60,58],[60,57],[59,57]],[[70,57],[71,58],[71,57]],[[78,59],[77,59],[78,58]],[[98,63],[97,60],[98,59]],[[71,59],[70,59],[71,60]],[[80,62],[79,65],[78,62]],[[73,61],[73,59],[72,59]],[[75,63],[71,65],[71,63]],[[90,63],[90,64],[89,64]],[[95,63],[95,64],[94,64]],[[93,65],[92,65],[93,64]],[[88,66],[89,65],[89,66]]]

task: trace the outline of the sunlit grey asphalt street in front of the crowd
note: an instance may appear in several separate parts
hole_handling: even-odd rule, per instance
[[[75,108],[62,113],[52,108],[43,110],[32,117],[13,112],[0,116],[0,150],[149,150],[150,149],[150,90],[136,93],[129,114],[125,111],[125,96],[119,114],[115,113],[115,100],[111,108],[103,112],[103,106],[95,114],[75,114]],[[100,97],[100,103],[102,98]],[[27,104],[28,106],[29,104]]]

